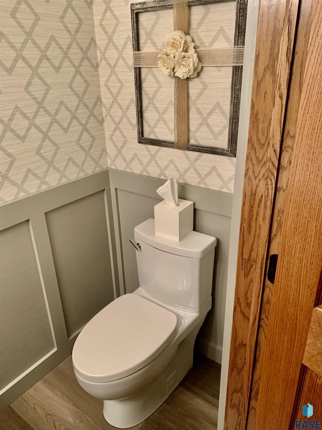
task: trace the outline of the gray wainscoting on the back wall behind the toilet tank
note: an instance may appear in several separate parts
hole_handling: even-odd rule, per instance
[[[135,250],[129,239],[133,237],[135,225],[154,217],[154,205],[160,201],[156,189],[165,180],[114,169],[109,173],[120,294],[124,294],[138,287]],[[213,306],[201,328],[197,345],[200,352],[221,362],[232,195],[180,184],[179,197],[195,202],[194,229],[218,239]]]

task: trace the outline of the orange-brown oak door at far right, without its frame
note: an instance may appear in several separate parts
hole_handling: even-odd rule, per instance
[[[261,430],[322,427],[321,23],[315,2],[256,411]],[[305,417],[307,403],[313,415]]]

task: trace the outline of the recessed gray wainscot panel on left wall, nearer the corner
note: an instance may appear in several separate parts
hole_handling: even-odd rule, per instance
[[[104,191],[46,213],[68,337],[114,299]]]

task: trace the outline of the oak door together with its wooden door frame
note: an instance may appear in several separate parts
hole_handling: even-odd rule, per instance
[[[305,428],[304,420],[322,420],[322,2],[266,0],[261,6],[270,13],[274,10],[275,32],[279,31],[278,23],[284,22],[280,46],[284,40],[288,47],[284,52],[293,50],[293,69],[287,100],[286,80],[277,79],[275,90],[271,90],[274,101],[278,100],[272,104],[271,117],[280,121],[283,143],[276,165],[271,160],[279,151],[278,134],[273,135],[273,142],[254,140],[258,131],[265,129],[261,111],[256,111],[258,100],[270,94],[274,73],[280,78],[276,70],[283,66],[283,49],[276,69],[271,66],[266,76],[254,72],[254,122],[250,126],[241,214],[226,430],[291,430],[302,428],[299,425]],[[263,12],[261,29],[267,22]],[[294,17],[295,48],[291,31]],[[276,38],[266,46],[274,43]],[[263,46],[257,46],[259,64],[263,51]],[[285,116],[283,109],[279,110],[284,102]],[[266,164],[259,157],[260,151],[267,156]],[[255,175],[259,166],[269,168],[271,176]],[[274,187],[275,206],[269,193]],[[261,205],[266,209],[262,218],[258,216]],[[269,286],[265,264],[272,248],[278,254],[278,264],[275,283]],[[313,405],[310,417],[302,414],[307,403]],[[318,423],[315,428],[319,428]]]

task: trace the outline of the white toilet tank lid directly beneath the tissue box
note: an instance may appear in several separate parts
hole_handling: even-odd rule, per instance
[[[182,240],[172,240],[163,236],[156,236],[154,219],[149,218],[134,227],[134,236],[142,242],[167,253],[183,257],[202,258],[215,248],[217,239],[208,234],[191,231]]]

